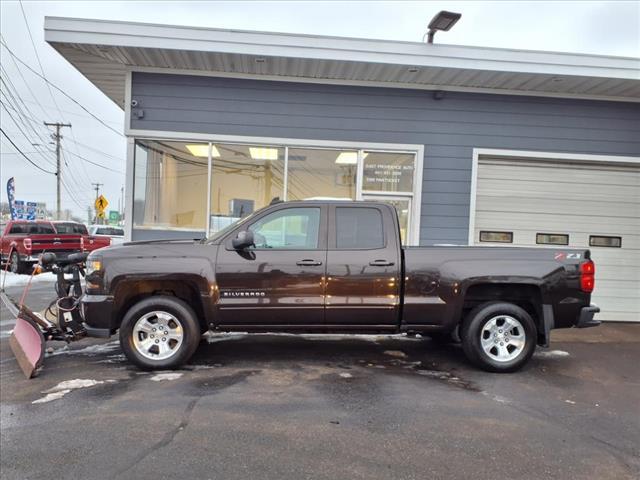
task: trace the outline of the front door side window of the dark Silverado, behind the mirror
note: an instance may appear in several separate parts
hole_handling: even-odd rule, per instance
[[[287,208],[278,210],[249,227],[255,248],[313,250],[318,248],[320,209]]]

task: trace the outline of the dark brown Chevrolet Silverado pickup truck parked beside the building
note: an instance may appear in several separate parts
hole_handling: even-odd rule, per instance
[[[207,330],[457,330],[472,363],[510,372],[551,329],[599,324],[594,275],[588,250],[403,247],[388,204],[279,202],[208,239],[90,254],[82,305],[88,334],[119,329],[143,369],[187,362]]]

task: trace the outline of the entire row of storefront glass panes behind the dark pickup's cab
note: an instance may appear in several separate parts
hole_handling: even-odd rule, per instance
[[[412,152],[137,140],[133,226],[213,235],[275,199],[365,199],[392,204],[415,243],[415,169]]]

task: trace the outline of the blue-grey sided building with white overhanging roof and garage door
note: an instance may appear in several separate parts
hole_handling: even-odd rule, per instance
[[[127,235],[202,237],[274,197],[375,199],[407,244],[590,248],[640,321],[640,60],[47,18],[125,111]]]

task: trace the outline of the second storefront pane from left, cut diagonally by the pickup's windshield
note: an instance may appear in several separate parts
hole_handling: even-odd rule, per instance
[[[214,143],[210,233],[284,196],[284,148]]]

